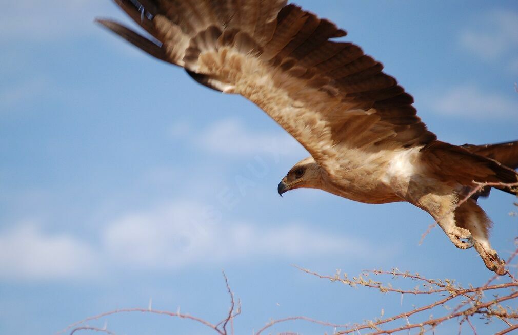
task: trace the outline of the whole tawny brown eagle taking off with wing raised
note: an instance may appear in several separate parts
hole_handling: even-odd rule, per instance
[[[369,204],[409,202],[457,248],[474,246],[487,268],[505,271],[476,198],[457,203],[477,183],[518,182],[518,142],[438,141],[381,63],[286,0],[114,1],[148,34],[98,22],[197,82],[248,98],[309,151],[279,193],[316,188]]]

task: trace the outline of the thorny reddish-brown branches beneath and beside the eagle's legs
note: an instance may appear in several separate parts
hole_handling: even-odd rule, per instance
[[[474,188],[469,194],[467,194],[463,199],[459,200],[456,207],[453,209],[457,209],[463,203],[468,201],[472,195],[476,194],[480,190],[485,187],[518,187],[518,183],[516,184],[499,184],[499,183],[477,183],[477,187]],[[429,232],[429,231],[428,231]],[[423,234],[424,238],[427,233]],[[515,239],[516,250],[511,254],[506,264],[510,267],[518,267],[518,264],[511,264],[516,256],[518,256],[518,238]],[[478,316],[484,318],[487,322],[492,321],[493,319],[498,319],[503,322],[507,328],[501,330],[497,333],[497,335],[504,335],[511,333],[512,331],[518,330],[518,309],[513,309],[511,307],[502,306],[502,302],[509,301],[512,299],[518,298],[518,280],[512,275],[510,271],[507,271],[507,276],[504,278],[508,279],[508,282],[501,284],[492,284],[497,275],[493,276],[490,280],[486,282],[485,285],[480,287],[463,287],[462,285],[456,283],[451,279],[428,279],[424,276],[421,276],[419,273],[410,273],[410,272],[401,272],[397,269],[392,271],[382,271],[382,270],[370,270],[364,271],[361,275],[353,278],[349,278],[347,274],[341,275],[340,272],[337,272],[334,276],[324,276],[319,273],[312,272],[307,269],[299,268],[299,270],[304,271],[310,275],[319,277],[320,279],[330,280],[332,282],[339,282],[351,287],[363,286],[367,288],[373,288],[379,290],[381,293],[397,293],[402,296],[404,295],[430,295],[434,297],[438,297],[437,300],[431,302],[425,306],[415,307],[412,310],[394,315],[392,317],[387,317],[384,319],[377,318],[375,321],[365,321],[362,324],[334,324],[324,321],[319,321],[313,318],[309,318],[306,316],[293,316],[286,317],[283,319],[271,320],[268,322],[263,328],[258,330],[255,335],[261,335],[264,331],[270,329],[273,326],[283,324],[286,322],[293,321],[305,321],[313,324],[318,324],[324,327],[332,327],[333,335],[344,335],[350,333],[358,333],[360,334],[361,330],[371,330],[371,334],[380,335],[380,334],[392,334],[398,332],[409,332],[412,329],[419,329],[420,334],[424,334],[428,331],[433,331],[444,322],[447,322],[451,319],[457,319],[459,324],[459,333],[462,331],[462,325],[467,323],[473,334],[477,335],[477,330],[471,323],[471,317]],[[401,280],[411,280],[419,282],[419,285],[414,287],[412,290],[403,290],[400,288],[394,288],[390,283],[384,284],[381,281],[373,280],[372,276],[383,277],[383,276],[392,276],[393,279],[401,279]],[[237,307],[234,299],[234,293],[232,292],[228,279],[223,272],[223,277],[225,279],[225,284],[227,288],[228,295],[231,299],[231,307],[229,308],[227,316],[218,324],[212,324],[205,319],[192,316],[189,314],[182,314],[178,310],[178,312],[169,312],[169,311],[159,311],[151,309],[151,306],[148,309],[119,309],[111,312],[98,314],[96,316],[88,317],[79,321],[75,324],[72,324],[60,331],[56,335],[60,335],[64,332],[71,330],[70,335],[74,335],[79,331],[94,331],[94,332],[103,332],[109,335],[114,335],[113,332],[108,331],[106,327],[104,328],[96,328],[90,327],[87,325],[88,322],[96,321],[99,319],[106,318],[108,316],[114,314],[121,313],[151,313],[151,314],[161,314],[167,315],[171,317],[177,317],[181,319],[189,319],[196,323],[202,324],[206,327],[211,328],[215,332],[220,335],[234,335],[234,319],[241,313],[241,304],[238,300]],[[501,278],[501,277],[500,277]],[[487,298],[487,295],[492,296],[493,298]],[[453,309],[450,313],[436,317],[430,316],[426,321],[421,322],[410,322],[410,317],[423,319],[422,314],[424,312],[434,312],[438,307],[444,306],[447,307],[447,302],[453,302],[456,298],[462,297],[462,300],[458,306]],[[402,300],[401,300],[402,301]],[[419,316],[421,315],[421,317]],[[396,325],[398,321],[404,322],[404,325]],[[231,325],[230,333],[227,332],[227,325]],[[387,329],[381,329],[381,327],[386,327]],[[295,333],[283,333],[283,334],[295,334]]]

